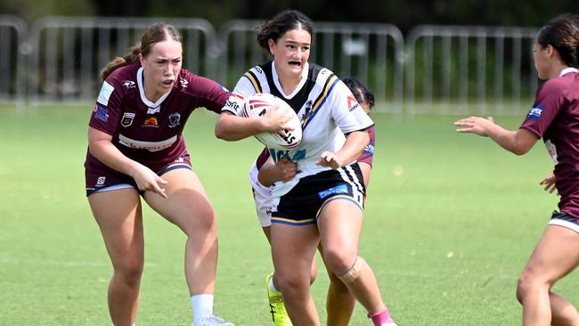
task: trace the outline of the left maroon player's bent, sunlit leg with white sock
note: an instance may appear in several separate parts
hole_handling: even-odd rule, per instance
[[[162,174],[167,199],[146,192],[151,208],[177,225],[187,235],[185,278],[192,296],[193,320],[213,318],[213,293],[217,268],[215,212],[199,178],[189,168],[175,168]],[[219,324],[219,323],[216,323]]]

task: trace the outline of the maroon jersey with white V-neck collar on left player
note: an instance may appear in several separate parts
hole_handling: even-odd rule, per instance
[[[129,159],[159,172],[187,155],[182,133],[192,111],[204,107],[219,113],[228,97],[215,81],[181,69],[171,91],[150,102],[144,95],[143,69],[135,63],[116,69],[103,83],[89,126],[110,134]],[[90,152],[85,167],[110,169]]]

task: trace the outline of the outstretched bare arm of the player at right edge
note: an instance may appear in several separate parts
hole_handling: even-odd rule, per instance
[[[530,151],[539,137],[525,128],[517,131],[507,130],[494,123],[493,118],[469,117],[462,118],[454,123],[461,126],[457,129],[459,133],[478,134],[491,138],[494,143],[498,143],[503,149],[516,155],[523,155]]]

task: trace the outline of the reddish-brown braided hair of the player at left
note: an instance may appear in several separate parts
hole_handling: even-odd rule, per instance
[[[169,39],[182,43],[181,34],[179,34],[179,31],[172,25],[163,22],[152,24],[143,31],[141,42],[131,46],[125,56],[122,58],[117,57],[107,63],[107,65],[101,70],[102,80],[109,77],[110,73],[115,71],[115,69],[139,61],[139,53],[143,54],[143,57],[146,57],[151,53],[153,45]]]

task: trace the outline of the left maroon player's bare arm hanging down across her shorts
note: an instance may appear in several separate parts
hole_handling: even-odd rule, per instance
[[[110,134],[103,133],[92,126],[88,127],[88,151],[94,158],[120,173],[133,177],[140,190],[157,192],[160,196],[167,198],[165,190],[160,188],[160,185],[166,184],[167,181],[152,172],[150,168],[127,158],[111,141]]]

